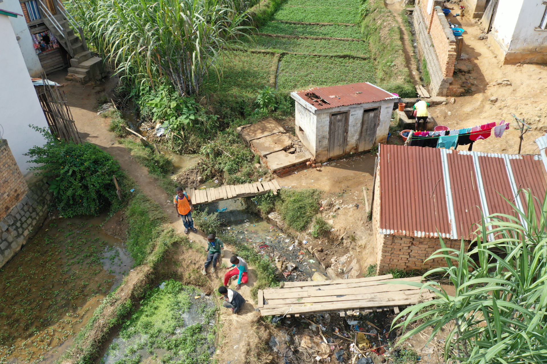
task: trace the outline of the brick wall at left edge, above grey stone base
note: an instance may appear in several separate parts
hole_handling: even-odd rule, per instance
[[[27,182],[11,154],[8,141],[0,139],[0,220],[27,192]]]

